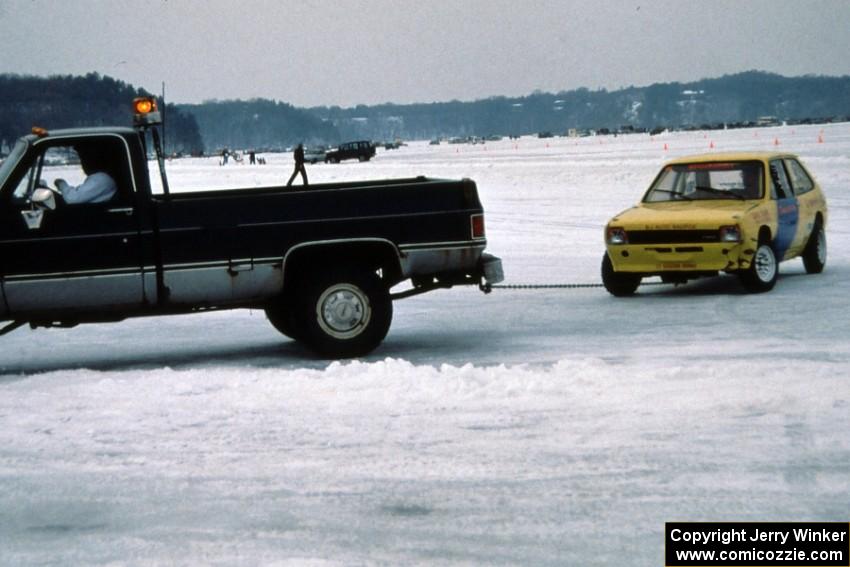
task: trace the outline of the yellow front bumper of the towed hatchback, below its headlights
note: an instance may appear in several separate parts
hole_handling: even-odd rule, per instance
[[[614,271],[644,275],[743,270],[750,266],[754,252],[732,242],[608,246]]]

